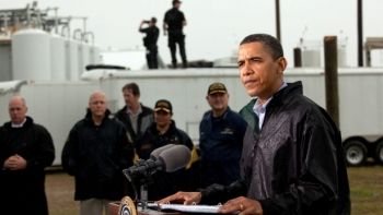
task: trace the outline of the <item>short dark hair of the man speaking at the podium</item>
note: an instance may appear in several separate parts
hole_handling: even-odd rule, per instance
[[[279,40],[268,34],[251,34],[246,36],[240,45],[249,43],[260,43],[263,44],[271,53],[274,59],[283,57],[283,48]]]

